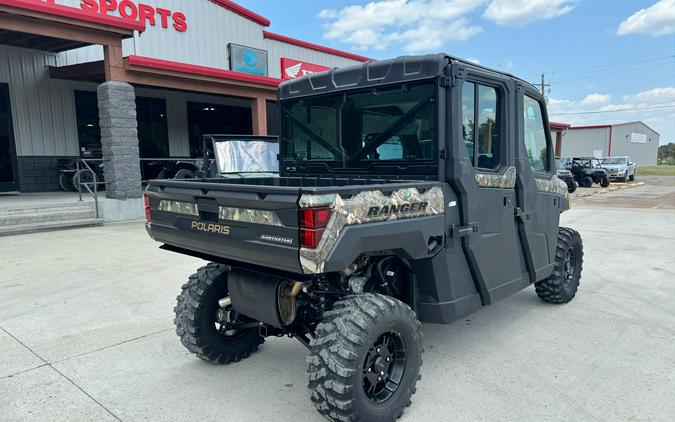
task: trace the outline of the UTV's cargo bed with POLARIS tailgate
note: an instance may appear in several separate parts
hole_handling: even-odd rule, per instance
[[[303,195],[384,195],[438,183],[363,178],[269,177],[151,181],[148,233],[197,255],[302,274],[298,213]]]

